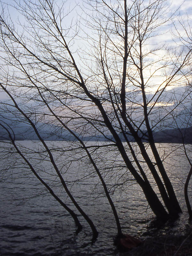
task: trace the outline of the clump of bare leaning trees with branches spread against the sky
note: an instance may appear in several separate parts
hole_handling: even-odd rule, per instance
[[[6,8],[1,13],[0,86],[6,95],[1,102],[1,127],[15,154],[74,218],[74,212],[38,174],[31,149],[27,152],[16,141],[9,120],[16,127],[25,124],[28,134],[36,134],[43,147],[36,152],[38,159],[46,157],[52,165],[61,186],[92,228],[93,240],[97,230],[70,192],[53,152],[78,151],[89,161],[111,206],[119,236],[121,225],[101,167],[106,164],[111,170],[115,165],[114,170],[123,168],[132,174],[157,218],[178,216],[181,208],[154,132],[172,124],[172,116],[191,93],[186,90],[190,29],[185,27],[185,35],[180,35],[177,23],[181,26],[182,20],[176,13],[170,14],[165,0],[87,1],[81,24],[72,21],[68,27],[65,21],[70,11],[64,12],[65,4],[59,6],[53,0],[13,2],[25,21],[16,27]],[[174,39],[169,38],[169,46],[161,38],[169,35],[170,29]],[[71,134],[67,147],[61,150],[48,145],[42,135],[45,127],[58,138],[64,131]],[[93,137],[95,144],[90,146],[86,140]],[[98,143],[96,138],[105,142]],[[102,160],[106,150],[113,150],[120,164]]]

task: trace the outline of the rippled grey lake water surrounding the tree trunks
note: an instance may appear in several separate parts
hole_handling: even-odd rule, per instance
[[[45,153],[41,151],[44,161],[41,161],[40,155],[35,153],[40,151],[39,144],[36,145],[31,141],[20,141],[19,143],[22,147],[30,147],[31,150],[34,150],[27,154],[28,157],[31,157],[31,161],[35,161],[36,170],[53,186],[62,200],[77,213],[60,187]],[[54,148],[61,149],[66,142],[47,143],[54,144]],[[181,233],[189,225],[183,198],[183,182],[187,177],[189,164],[179,145],[161,145],[161,154],[168,155],[173,148],[177,148],[177,150],[165,159],[165,167],[174,183],[183,214],[170,228],[170,232]],[[148,208],[141,189],[134,184],[132,177],[125,172],[124,166],[118,162],[118,157],[113,157],[113,154],[111,151],[100,155],[97,161],[98,165],[102,165],[105,180],[108,187],[111,188],[111,196],[119,214],[123,232],[145,239],[156,231],[156,228],[150,225],[154,215]],[[103,196],[98,177],[86,158],[79,159],[77,154],[72,152],[65,152],[65,157],[63,157],[60,156],[59,150],[54,152],[54,156],[71,188],[72,195],[97,227],[99,231],[97,241],[91,245],[92,232],[79,214],[79,220],[84,228],[78,235],[75,235],[76,227],[65,209],[46,192],[10,149],[6,153],[1,153],[0,255],[120,255],[113,245],[116,223],[111,208]],[[103,166],[105,159],[106,166]],[[107,161],[113,165],[113,168],[108,168]],[[115,164],[118,164],[117,169]],[[14,168],[5,170],[7,165]],[[121,186],[115,189],[116,184],[119,184],[120,181]],[[191,184],[189,190],[191,191]],[[191,196],[191,192],[189,194]],[[164,233],[168,228],[168,226],[162,227],[158,232]]]

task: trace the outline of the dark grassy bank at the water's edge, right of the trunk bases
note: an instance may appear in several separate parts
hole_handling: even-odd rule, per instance
[[[163,223],[152,220],[150,228],[141,236],[135,236],[141,243],[130,250],[125,247],[117,247],[118,256],[191,256],[192,255],[192,221],[189,219],[179,229],[175,229],[179,219],[168,220]],[[115,240],[114,240],[115,241]],[[134,238],[133,238],[134,241]],[[114,242],[115,244],[115,242]]]

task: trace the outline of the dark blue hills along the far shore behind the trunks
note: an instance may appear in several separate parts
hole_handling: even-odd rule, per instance
[[[38,140],[36,133],[34,132],[33,128],[29,124],[18,123],[17,126],[13,127],[11,122],[9,122],[8,125],[14,131],[16,140]],[[39,134],[44,140],[76,141],[76,138],[70,132],[68,132],[67,130],[61,130],[60,127],[56,125],[39,123],[37,128],[38,128]],[[182,139],[181,133],[183,135],[183,139]],[[83,137],[80,134],[77,134],[77,136],[79,136],[84,141],[108,141],[108,139],[104,135],[100,136],[99,134],[95,136],[85,136],[85,137]],[[155,142],[158,142],[158,143],[183,143],[183,140],[184,140],[184,143],[192,144],[192,127],[182,128],[180,130],[165,129],[159,132],[154,132],[153,136],[154,136]],[[109,138],[109,140],[112,139],[110,135],[108,135],[107,137]],[[121,138],[122,141],[125,141],[122,133],[119,134],[119,137]],[[134,138],[132,135],[127,135],[127,138],[129,141],[132,141],[132,142],[134,141]],[[0,126],[0,140],[9,140],[8,133],[1,126]],[[143,141],[147,142],[148,141],[147,137],[145,137]]]

